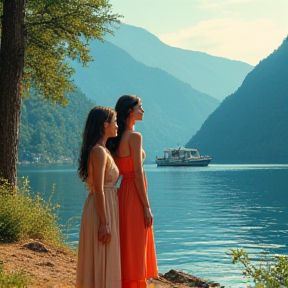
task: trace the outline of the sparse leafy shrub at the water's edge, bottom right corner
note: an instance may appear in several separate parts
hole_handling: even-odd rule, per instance
[[[255,283],[262,283],[268,288],[288,287],[288,256],[275,256],[275,261],[261,261],[257,267],[243,249],[231,251],[233,264],[241,263],[245,268],[243,275],[254,278]]]

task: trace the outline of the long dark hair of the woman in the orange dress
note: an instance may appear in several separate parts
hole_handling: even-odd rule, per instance
[[[118,124],[118,135],[114,138],[109,138],[106,142],[106,147],[109,151],[115,155],[119,143],[121,141],[122,135],[126,129],[126,119],[133,107],[141,102],[141,99],[136,95],[123,95],[121,96],[115,106],[115,111],[117,113],[117,124]]]

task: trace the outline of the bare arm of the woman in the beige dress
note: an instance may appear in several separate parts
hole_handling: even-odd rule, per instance
[[[95,146],[91,151],[92,177],[94,185],[94,207],[100,218],[98,239],[102,242],[110,240],[110,228],[107,219],[106,202],[104,193],[104,176],[107,154],[103,147]]]

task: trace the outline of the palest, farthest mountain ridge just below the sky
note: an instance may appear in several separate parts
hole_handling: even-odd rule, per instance
[[[141,63],[160,68],[194,89],[222,101],[235,92],[253,66],[209,54],[184,50],[161,42],[147,30],[121,24],[105,39]]]

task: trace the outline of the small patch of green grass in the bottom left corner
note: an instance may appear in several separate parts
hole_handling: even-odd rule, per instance
[[[24,288],[28,284],[31,284],[31,280],[23,271],[5,273],[3,271],[3,263],[0,261],[1,288]]]

